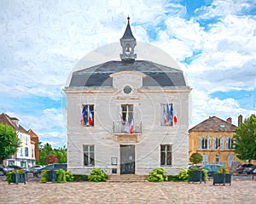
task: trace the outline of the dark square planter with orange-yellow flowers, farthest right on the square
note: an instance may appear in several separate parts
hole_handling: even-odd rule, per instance
[[[231,173],[227,167],[218,167],[218,172],[213,174],[215,184],[231,184]]]

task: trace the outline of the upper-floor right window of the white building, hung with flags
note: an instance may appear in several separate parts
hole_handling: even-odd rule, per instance
[[[160,121],[161,126],[173,125],[173,108],[172,104],[162,104],[160,106]]]

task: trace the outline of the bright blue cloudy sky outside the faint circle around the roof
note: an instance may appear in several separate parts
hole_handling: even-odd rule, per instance
[[[137,42],[160,48],[192,88],[193,127],[209,116],[256,109],[256,0],[0,0],[0,112],[55,148],[67,144],[70,72],[96,48],[119,42],[131,20]],[[135,49],[136,51],[136,49]]]

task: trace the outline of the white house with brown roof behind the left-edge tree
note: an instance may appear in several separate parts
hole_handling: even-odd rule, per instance
[[[19,119],[16,117],[10,117],[7,114],[2,113],[0,115],[0,123],[13,127],[20,139],[20,147],[14,156],[10,156],[9,159],[3,161],[5,166],[18,165],[20,167],[31,167],[35,165],[36,153],[35,150],[38,146],[38,137],[35,133],[31,137],[30,133],[19,124]]]

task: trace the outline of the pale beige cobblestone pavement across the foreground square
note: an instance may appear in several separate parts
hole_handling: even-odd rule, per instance
[[[231,185],[184,182],[8,184],[0,181],[0,203],[256,203],[256,180]]]

